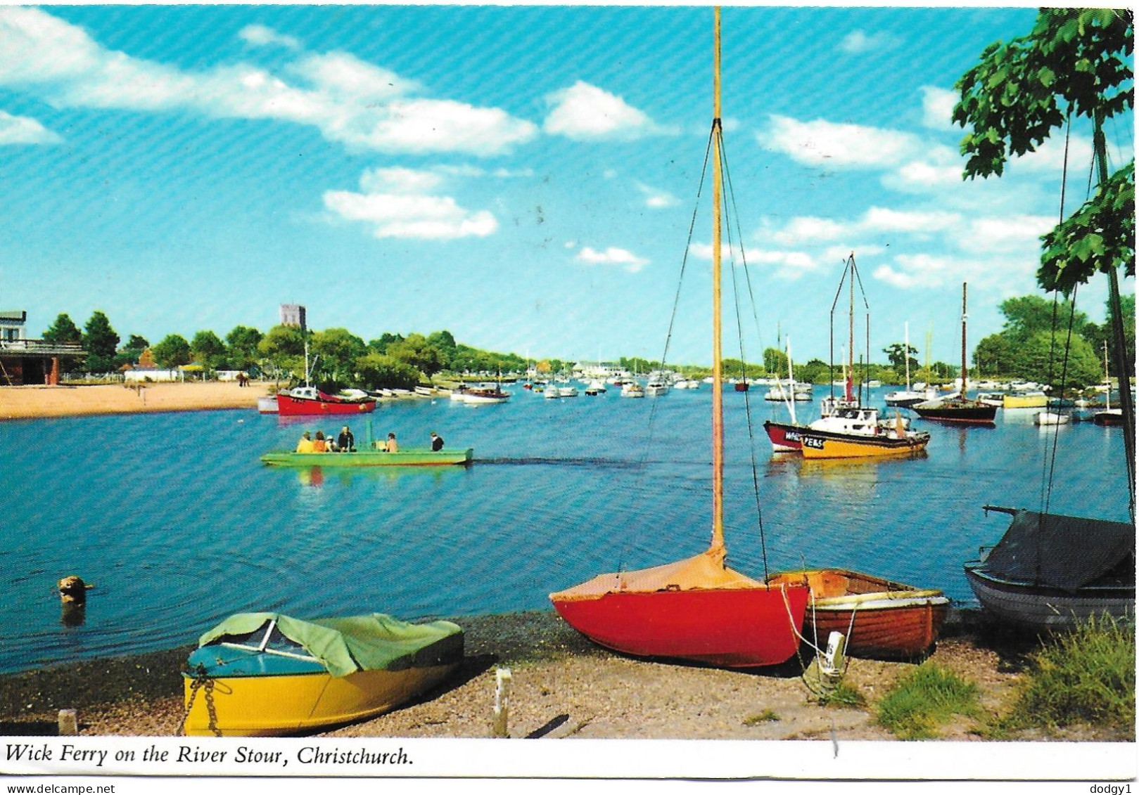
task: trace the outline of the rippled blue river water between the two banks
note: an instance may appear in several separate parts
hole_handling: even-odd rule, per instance
[[[404,446],[434,430],[449,447],[474,447],[467,469],[260,463],[302,430],[338,429],[335,417],[3,423],[0,671],[185,645],[241,611],[410,620],[547,608],[549,593],[593,574],[706,547],[707,386],[644,400],[514,391],[503,405],[401,401],[371,416],[377,436],[394,431]],[[786,409],[759,397],[771,571],[852,568],[969,603],[961,563],[1007,523],[982,505],[1039,508],[1047,495],[1058,513],[1129,520],[1121,429],[1042,430],[1025,409],[999,413],[994,429],[917,421],[933,438],[916,459],[804,462],[771,454],[761,425]],[[744,398],[729,392],[724,403],[730,562],[762,575]],[[811,411],[800,409],[801,419]],[[360,439],[364,421],[353,421]],[[79,627],[63,624],[55,590],[72,573],[96,586]]]

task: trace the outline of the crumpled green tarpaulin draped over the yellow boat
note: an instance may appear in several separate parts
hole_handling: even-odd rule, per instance
[[[458,624],[412,624],[383,613],[312,621],[281,613],[237,613],[198,638],[198,646],[226,636],[248,636],[273,620],[281,635],[304,647],[334,677],[444,665],[462,659],[462,628]]]

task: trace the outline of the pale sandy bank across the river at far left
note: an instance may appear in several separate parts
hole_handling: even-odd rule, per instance
[[[188,381],[185,383],[92,384],[0,388],[0,420],[32,420],[91,414],[191,412],[211,408],[255,408],[269,384]]]

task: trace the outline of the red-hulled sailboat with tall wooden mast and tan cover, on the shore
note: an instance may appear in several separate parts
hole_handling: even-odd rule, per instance
[[[720,9],[714,13],[712,149],[712,543],[693,557],[639,571],[600,574],[550,595],[570,626],[598,645],[641,657],[724,668],[789,660],[810,588],[769,585],[727,566],[723,535],[723,375],[721,367]]]

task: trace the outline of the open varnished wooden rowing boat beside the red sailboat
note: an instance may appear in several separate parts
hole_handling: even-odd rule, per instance
[[[949,614],[949,597],[933,588],[849,571],[814,569],[768,578],[771,585],[805,582],[811,589],[804,633],[818,646],[831,632],[846,638],[846,653],[879,659],[926,654]]]

